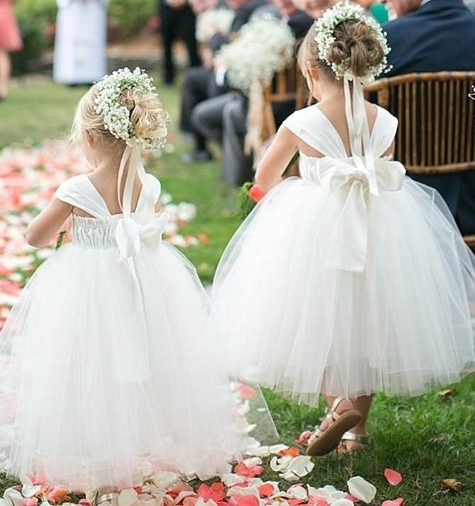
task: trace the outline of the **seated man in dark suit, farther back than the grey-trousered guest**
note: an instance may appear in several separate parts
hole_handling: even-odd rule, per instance
[[[230,33],[216,33],[208,42],[213,53],[220,50],[220,47],[228,43],[235,33],[244,26],[252,16],[255,9],[266,4],[267,0],[227,0],[226,3],[235,11],[235,17],[230,27]],[[186,133],[194,136],[194,150],[187,154],[185,162],[198,162],[211,159],[211,154],[206,148],[206,137],[194,127],[191,122],[191,113],[194,107],[203,100],[217,96],[227,90],[216,84],[214,68],[194,67],[189,69],[184,77],[181,94],[181,118],[180,128]]]

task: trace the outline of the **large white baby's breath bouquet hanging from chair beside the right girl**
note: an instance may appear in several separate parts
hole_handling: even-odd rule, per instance
[[[272,14],[245,24],[238,37],[222,47],[217,59],[228,69],[231,86],[249,94],[253,84],[264,86],[294,55],[290,28]]]

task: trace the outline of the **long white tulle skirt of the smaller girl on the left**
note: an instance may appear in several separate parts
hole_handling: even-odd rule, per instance
[[[168,244],[60,248],[1,332],[0,445],[10,474],[69,490],[130,487],[143,471],[228,470],[243,435],[218,373],[191,264]]]

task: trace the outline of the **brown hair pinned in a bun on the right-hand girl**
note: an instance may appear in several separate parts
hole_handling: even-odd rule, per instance
[[[297,62],[302,73],[318,69],[325,76],[337,81],[331,64],[347,62],[348,70],[357,77],[365,76],[370,67],[379,65],[384,59],[384,49],[374,34],[374,29],[362,21],[343,21],[335,28],[335,42],[330,46],[327,62],[318,57],[315,24],[308,30],[298,48]],[[312,91],[312,90],[311,90]]]

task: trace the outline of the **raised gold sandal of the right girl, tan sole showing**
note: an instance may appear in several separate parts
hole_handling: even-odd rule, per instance
[[[343,400],[345,398],[337,397],[332,406],[325,410],[325,418],[332,423],[325,430],[315,427],[315,432],[308,438],[307,455],[321,456],[330,453],[338,447],[343,435],[361,420],[361,413],[357,410],[347,410],[341,415],[336,412]]]

